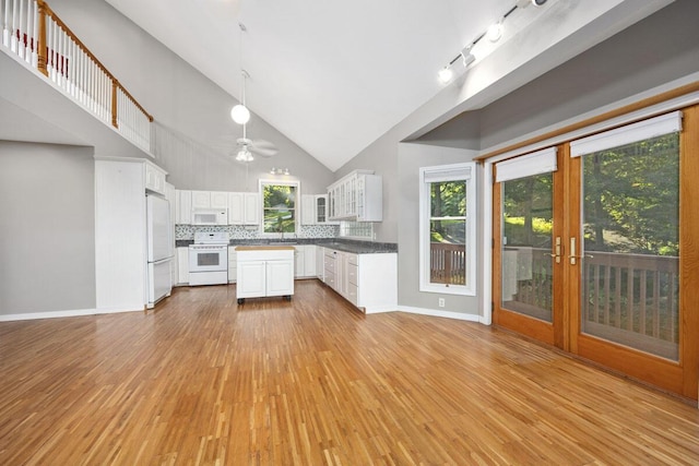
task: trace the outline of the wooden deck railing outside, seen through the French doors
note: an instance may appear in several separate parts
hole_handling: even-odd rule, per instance
[[[520,248],[508,247],[509,251]],[[522,248],[531,266],[526,279],[518,279],[518,302],[544,307],[550,297],[550,250]],[[656,340],[655,353],[670,355],[679,342],[677,328],[679,258],[590,251],[583,261],[581,312],[583,328],[635,347]],[[546,286],[544,286],[544,284]],[[635,335],[635,336],[633,336]],[[644,342],[643,342],[644,340]]]

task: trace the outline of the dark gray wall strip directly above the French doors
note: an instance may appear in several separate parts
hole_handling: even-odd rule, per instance
[[[697,17],[699,1],[677,0],[490,104],[479,112],[481,148],[698,72]]]

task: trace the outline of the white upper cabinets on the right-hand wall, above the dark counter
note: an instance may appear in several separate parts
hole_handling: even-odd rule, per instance
[[[382,180],[374,171],[355,170],[328,187],[331,220],[381,222]]]

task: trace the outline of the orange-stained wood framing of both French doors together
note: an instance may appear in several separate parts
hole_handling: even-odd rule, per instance
[[[580,262],[570,265],[570,238],[580,241],[581,231],[581,157],[570,157],[568,142],[558,146],[558,171],[567,174],[560,187],[554,182],[554,237],[560,236],[564,244],[562,271],[554,280],[554,296],[566,296],[560,304],[554,304],[554,324],[500,309],[501,301],[501,186],[493,179],[493,323],[514,328],[516,332],[542,343],[555,345],[566,351],[601,363],[633,379],[677,393],[690,399],[699,399],[699,105],[682,109],[680,133],[680,201],[679,201],[679,358],[672,361],[641,350],[612,344],[581,333]],[[572,174],[577,172],[577,176]],[[573,208],[574,206],[574,208]],[[560,228],[560,229],[558,229]],[[555,273],[556,275],[556,273]]]

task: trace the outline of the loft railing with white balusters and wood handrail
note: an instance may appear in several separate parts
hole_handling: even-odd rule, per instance
[[[119,84],[44,0],[0,0],[2,46],[140,148],[153,117]]]

